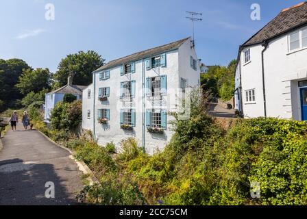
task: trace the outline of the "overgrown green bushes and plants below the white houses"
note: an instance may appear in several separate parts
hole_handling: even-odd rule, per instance
[[[84,138],[66,146],[95,172],[81,201],[99,205],[306,205],[307,125],[236,120],[223,131],[194,99],[190,120],[175,120],[166,149],[143,153],[134,138],[114,155]],[[260,198],[251,198],[251,184]]]

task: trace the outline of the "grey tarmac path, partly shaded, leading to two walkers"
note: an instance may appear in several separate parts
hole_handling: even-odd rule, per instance
[[[75,196],[84,185],[71,153],[38,131],[24,131],[20,123],[17,131],[6,133],[2,143],[0,205],[76,204]],[[47,198],[45,193],[52,194],[52,183],[55,196]]]

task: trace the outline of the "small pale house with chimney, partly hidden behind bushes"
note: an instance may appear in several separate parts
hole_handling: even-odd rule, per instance
[[[65,86],[45,94],[45,123],[50,123],[51,111],[59,101],[63,100],[65,94],[73,94],[77,99],[82,99],[82,90],[84,88],[86,86],[73,85],[73,78],[69,77]]]

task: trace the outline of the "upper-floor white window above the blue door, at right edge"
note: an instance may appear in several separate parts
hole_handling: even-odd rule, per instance
[[[307,27],[288,35],[288,51],[307,48]]]

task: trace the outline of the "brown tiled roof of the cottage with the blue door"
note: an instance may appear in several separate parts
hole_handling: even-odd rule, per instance
[[[278,16],[247,40],[243,46],[262,43],[304,25],[307,25],[307,1],[282,10]]]

